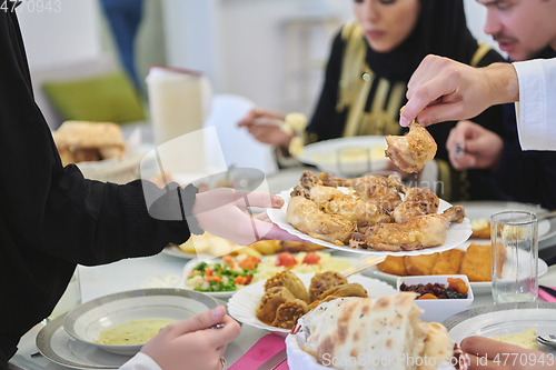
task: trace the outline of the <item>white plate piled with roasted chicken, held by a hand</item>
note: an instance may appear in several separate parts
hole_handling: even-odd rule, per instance
[[[281,229],[328,248],[369,254],[416,256],[453,249],[471,234],[461,206],[398,176],[337,178],[305,171],[268,216]]]

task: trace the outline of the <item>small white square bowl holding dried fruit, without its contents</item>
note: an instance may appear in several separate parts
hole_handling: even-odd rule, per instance
[[[426,284],[426,283],[439,283],[448,284],[448,278],[461,279],[469,289],[467,291],[467,299],[420,299],[416,300],[415,303],[425,312],[421,313],[420,318],[428,322],[443,322],[447,318],[458,312],[469,309],[473,304],[474,296],[469,280],[465,274],[437,274],[427,277],[399,277],[397,281],[398,291],[401,283],[406,286]]]

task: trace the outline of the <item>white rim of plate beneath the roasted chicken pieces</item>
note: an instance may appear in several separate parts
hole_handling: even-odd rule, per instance
[[[338,188],[342,191],[345,191],[346,188]],[[399,251],[399,252],[393,252],[393,251],[380,251],[380,250],[375,250],[375,249],[364,249],[364,248],[351,248],[347,246],[336,246],[334,243],[322,241],[319,239],[315,239],[309,237],[308,234],[295,229],[287,219],[287,209],[288,209],[288,203],[291,199],[290,192],[294,190],[294,188],[289,190],[285,190],[279,193],[281,198],[284,198],[284,206],[280,209],[268,209],[267,213],[270,220],[276,223],[278,227],[281,229],[288,231],[289,233],[299,237],[304,240],[310,241],[315,244],[319,246],[325,246],[331,249],[336,250],[341,250],[346,252],[353,252],[353,253],[365,253],[365,254],[378,254],[378,256],[418,256],[418,254],[431,254],[435,252],[444,252],[445,250],[449,250],[453,248],[456,248],[457,246],[465,242],[469,237],[471,236],[471,224],[469,222],[469,219],[465,218],[461,223],[451,223],[448,227],[448,233],[446,236],[446,241],[444,242],[443,246],[439,247],[433,247],[433,248],[425,248],[425,249],[418,249],[418,250],[410,250],[410,251]],[[440,199],[440,204],[438,206],[438,213],[444,212],[446,209],[450,208],[451,204],[448,203],[445,200]]]

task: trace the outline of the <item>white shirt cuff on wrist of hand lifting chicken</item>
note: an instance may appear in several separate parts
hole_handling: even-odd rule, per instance
[[[546,113],[549,101],[543,62],[543,60],[528,60],[513,63],[519,82],[519,103],[516,104],[516,116],[522,150],[554,148],[550,146],[549,136],[549,131],[553,130],[548,128]]]

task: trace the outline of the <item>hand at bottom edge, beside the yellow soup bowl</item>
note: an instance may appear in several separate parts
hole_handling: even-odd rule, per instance
[[[224,323],[221,329],[210,327]],[[170,323],[146,343],[141,352],[162,370],[221,370],[226,346],[240,332],[239,324],[224,307]]]

